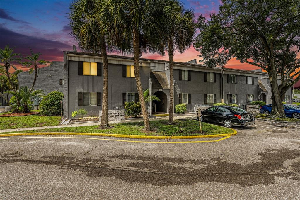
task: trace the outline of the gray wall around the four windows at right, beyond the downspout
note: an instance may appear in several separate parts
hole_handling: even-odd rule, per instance
[[[227,74],[224,74],[223,83],[224,83],[224,103],[228,103],[227,94],[237,94],[238,102],[237,104],[250,104],[247,103],[247,95],[253,94],[254,100],[257,101],[258,98],[258,77],[254,77],[254,84],[247,84],[247,76],[238,76],[237,83],[227,83]]]

